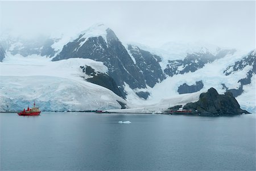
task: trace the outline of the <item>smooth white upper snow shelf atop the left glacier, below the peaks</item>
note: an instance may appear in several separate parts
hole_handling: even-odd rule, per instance
[[[108,67],[102,62],[92,59],[69,58],[52,62],[51,58],[40,55],[23,57],[22,55],[8,55],[0,62],[0,75],[2,76],[57,76],[61,78],[79,79],[84,76],[80,66],[90,66],[96,72],[106,73]]]

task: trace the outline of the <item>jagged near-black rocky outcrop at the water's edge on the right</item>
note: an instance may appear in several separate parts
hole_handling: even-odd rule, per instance
[[[199,101],[189,102],[183,109],[192,110],[192,114],[201,116],[232,116],[249,113],[242,110],[231,92],[219,95],[216,89],[210,88],[208,92],[201,93]]]

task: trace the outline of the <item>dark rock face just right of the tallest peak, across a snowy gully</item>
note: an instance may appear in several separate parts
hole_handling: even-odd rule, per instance
[[[143,72],[146,84],[151,88],[156,83],[166,79],[159,65],[162,59],[158,55],[151,54],[146,50],[138,48],[138,46],[128,45],[131,56],[135,59],[136,65]]]

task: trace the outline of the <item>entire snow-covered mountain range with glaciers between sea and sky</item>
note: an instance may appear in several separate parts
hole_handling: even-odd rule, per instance
[[[231,91],[244,109],[255,109],[255,50],[246,54],[207,44],[169,42],[162,49],[123,44],[104,24],[61,37],[41,36],[34,40],[5,37],[0,39],[0,45],[3,61],[0,94],[5,101],[0,106],[2,110],[6,110],[6,104],[23,101],[20,105],[24,105],[34,99],[40,101],[45,110],[136,108],[138,104],[158,109],[158,106],[167,108],[168,101],[171,105],[180,104],[184,99],[193,101],[210,87],[219,93]],[[36,76],[42,80],[36,82],[39,87],[32,86]],[[43,84],[48,85],[48,89]],[[58,84],[64,84],[63,91],[68,93],[60,93],[56,88]],[[14,95],[8,90],[11,86],[26,94],[45,92],[48,97],[56,92],[56,104],[49,106],[54,102],[46,96],[40,99],[38,95]],[[88,91],[91,93],[86,93]],[[61,96],[72,97],[72,100],[58,100]],[[245,102],[248,96],[250,100]]]

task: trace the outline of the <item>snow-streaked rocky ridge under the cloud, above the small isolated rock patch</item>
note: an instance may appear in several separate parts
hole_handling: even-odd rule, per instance
[[[184,74],[187,72],[195,72],[205,66],[206,63],[213,62],[216,59],[225,57],[227,54],[233,54],[236,50],[223,49],[218,51],[217,54],[212,54],[209,50],[201,50],[201,52],[195,52],[192,54],[187,54],[184,60],[173,60],[168,61],[164,73],[169,76],[174,76],[176,74]]]

